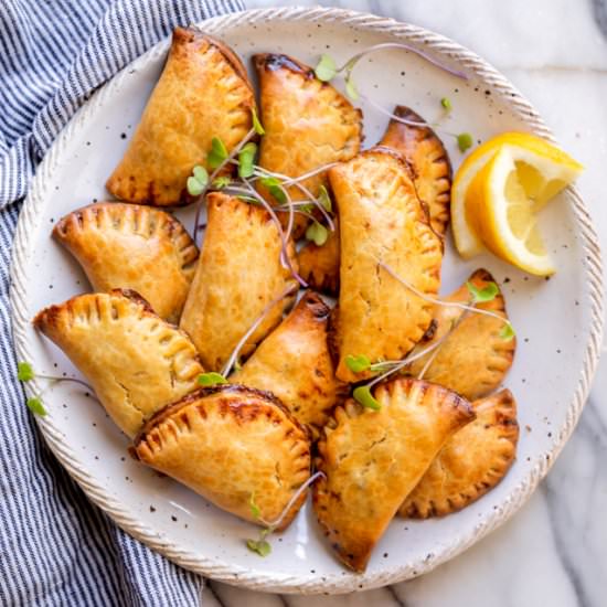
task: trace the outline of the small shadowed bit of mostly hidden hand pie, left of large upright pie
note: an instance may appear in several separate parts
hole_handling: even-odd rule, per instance
[[[329,232],[327,242],[317,246],[308,242],[298,254],[299,274],[312,289],[328,295],[339,291],[339,225],[333,220],[336,230]]]

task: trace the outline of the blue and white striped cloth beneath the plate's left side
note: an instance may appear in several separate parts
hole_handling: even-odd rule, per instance
[[[239,0],[0,0],[0,606],[192,606],[202,581],[90,504],[15,380],[10,247],[35,164],[97,86],[174,25]]]

